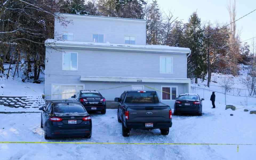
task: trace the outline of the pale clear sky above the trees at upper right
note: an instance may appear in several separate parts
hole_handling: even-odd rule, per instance
[[[233,0],[231,1],[233,2]],[[224,24],[229,24],[229,12],[227,5],[229,0],[158,0],[158,4],[162,11],[166,13],[168,10],[173,11],[174,17],[183,19],[183,22],[188,22],[189,16],[197,11],[202,23],[210,20],[211,23],[216,21]],[[256,9],[255,0],[237,0],[236,10],[239,19],[249,12]],[[237,21],[237,28],[241,32],[241,40],[247,40],[256,36],[256,11],[250,13],[246,17]],[[251,40],[246,41],[249,44]]]

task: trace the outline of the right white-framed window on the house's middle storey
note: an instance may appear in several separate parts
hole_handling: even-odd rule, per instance
[[[172,57],[160,57],[160,73],[173,73]]]

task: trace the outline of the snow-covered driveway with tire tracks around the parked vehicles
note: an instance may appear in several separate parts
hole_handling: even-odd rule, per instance
[[[210,102],[207,102],[209,104]],[[122,136],[117,110],[92,113],[90,139],[61,138],[61,142],[128,143],[239,143],[256,144],[256,115],[242,110],[203,108],[203,116],[173,116],[168,136],[160,130],[132,130]],[[234,116],[230,116],[233,113]],[[40,128],[41,113],[0,114],[0,141],[46,141]],[[107,145],[107,144],[6,144],[0,159],[253,159],[256,145]]]

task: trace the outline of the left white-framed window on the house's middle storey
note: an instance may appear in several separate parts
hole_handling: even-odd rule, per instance
[[[64,53],[62,56],[63,71],[77,71],[77,53]]]

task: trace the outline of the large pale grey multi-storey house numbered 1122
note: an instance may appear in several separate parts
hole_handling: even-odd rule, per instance
[[[54,39],[46,40],[46,100],[91,89],[113,101],[125,90],[155,89],[173,107],[179,94],[190,92],[190,49],[146,45],[146,20],[61,16],[72,21],[63,27],[55,19]]]

